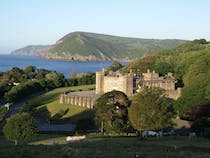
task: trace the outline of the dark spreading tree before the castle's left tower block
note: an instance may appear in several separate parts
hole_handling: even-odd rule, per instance
[[[128,106],[128,97],[123,92],[113,90],[105,93],[94,106],[95,119],[107,132],[123,132],[128,122]]]

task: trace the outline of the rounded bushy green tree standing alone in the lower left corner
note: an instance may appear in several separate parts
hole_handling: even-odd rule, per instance
[[[20,113],[6,120],[3,132],[8,140],[14,141],[17,145],[31,140],[33,136],[37,135],[38,128],[29,114]]]

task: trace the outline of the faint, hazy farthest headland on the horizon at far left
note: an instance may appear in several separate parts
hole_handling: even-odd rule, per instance
[[[16,49],[16,50],[12,51],[11,54],[36,56],[38,52],[42,51],[46,47],[48,47],[48,46],[30,45],[30,46],[26,46],[24,48]]]

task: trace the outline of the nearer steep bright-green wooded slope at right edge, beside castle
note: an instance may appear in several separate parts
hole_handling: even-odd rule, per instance
[[[188,68],[183,77],[182,96],[174,107],[183,117],[188,111],[210,100],[210,53],[204,53]]]

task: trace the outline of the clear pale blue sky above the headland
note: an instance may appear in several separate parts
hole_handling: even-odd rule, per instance
[[[74,31],[210,40],[209,0],[0,0],[0,54]]]

